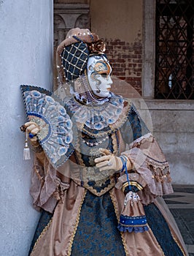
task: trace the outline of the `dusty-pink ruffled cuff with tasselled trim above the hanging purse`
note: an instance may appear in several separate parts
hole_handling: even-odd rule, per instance
[[[157,196],[173,192],[168,162],[150,133],[135,140],[131,149],[123,154],[131,159],[133,169],[147,183],[139,192],[144,204],[151,203]]]

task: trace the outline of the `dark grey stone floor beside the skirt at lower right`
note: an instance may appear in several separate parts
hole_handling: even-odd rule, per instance
[[[194,185],[174,185],[163,197],[173,214],[190,256],[194,256]]]

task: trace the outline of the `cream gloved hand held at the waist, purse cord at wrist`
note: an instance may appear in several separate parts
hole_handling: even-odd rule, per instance
[[[123,161],[120,157],[116,157],[109,150],[105,148],[100,149],[101,154],[104,154],[103,157],[98,157],[95,159],[96,167],[99,168],[100,171],[103,170],[122,170],[123,169]],[[126,157],[127,168],[130,168],[131,162]]]

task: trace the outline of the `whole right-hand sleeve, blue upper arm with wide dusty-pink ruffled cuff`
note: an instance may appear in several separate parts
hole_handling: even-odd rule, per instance
[[[142,203],[148,204],[155,197],[172,193],[168,162],[134,106],[128,113],[128,123],[120,133],[125,144],[128,144],[128,150],[122,154],[131,160],[131,172],[138,173],[147,184],[139,191]]]

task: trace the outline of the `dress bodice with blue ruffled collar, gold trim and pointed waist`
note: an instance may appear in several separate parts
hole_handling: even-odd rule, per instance
[[[109,102],[95,106],[95,109],[74,99],[66,103],[74,134],[77,134],[74,153],[69,158],[71,178],[99,196],[115,186],[117,176],[115,170],[100,172],[95,166],[94,160],[101,157],[99,149],[106,148],[111,154],[119,156],[125,151],[126,144],[141,136],[141,122],[130,102],[119,96],[112,96]],[[114,121],[108,118],[108,111],[113,106],[117,113]],[[79,116],[81,113],[81,118],[78,118],[78,113]]]

